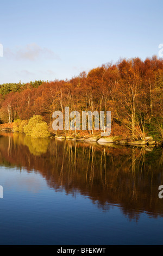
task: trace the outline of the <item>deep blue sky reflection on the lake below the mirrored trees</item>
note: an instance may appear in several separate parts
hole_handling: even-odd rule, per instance
[[[80,193],[72,197],[55,192],[34,172],[2,168],[2,174],[1,244],[162,243],[162,218],[151,219],[142,213],[139,222],[129,221],[120,206],[111,205],[109,211],[103,211]]]

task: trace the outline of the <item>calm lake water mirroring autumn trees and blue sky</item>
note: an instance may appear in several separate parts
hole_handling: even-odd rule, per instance
[[[1,245],[163,244],[163,150],[1,133]]]

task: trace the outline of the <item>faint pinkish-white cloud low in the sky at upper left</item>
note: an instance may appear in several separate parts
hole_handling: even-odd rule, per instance
[[[60,59],[60,57],[57,54],[55,54],[52,50],[46,47],[42,48],[35,43],[28,44],[24,47],[17,46],[15,50],[6,48],[4,50],[4,56],[16,60],[30,61],[35,61],[39,59]]]

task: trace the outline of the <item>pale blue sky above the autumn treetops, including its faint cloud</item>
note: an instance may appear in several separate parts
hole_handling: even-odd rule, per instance
[[[162,0],[0,0],[0,84],[65,80],[163,44]]]

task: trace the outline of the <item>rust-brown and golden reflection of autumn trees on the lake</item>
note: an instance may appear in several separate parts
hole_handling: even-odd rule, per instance
[[[55,191],[87,196],[104,211],[119,205],[139,220],[141,212],[163,215],[158,187],[163,185],[162,148],[32,139],[1,133],[0,164],[39,171]]]

